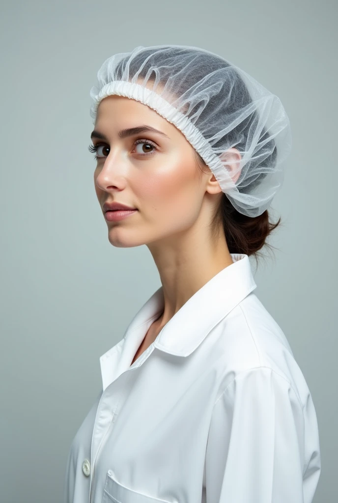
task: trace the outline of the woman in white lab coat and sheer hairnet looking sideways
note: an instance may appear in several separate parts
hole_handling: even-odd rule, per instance
[[[90,150],[109,241],[146,244],[161,287],[100,359],[65,503],[310,503],[314,405],[248,259],[279,223],[282,104],[196,47],[115,54],[98,80]]]

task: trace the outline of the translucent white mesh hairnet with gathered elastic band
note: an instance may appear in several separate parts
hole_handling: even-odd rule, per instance
[[[255,217],[270,206],[284,180],[291,132],[279,98],[257,80],[212,52],[181,45],[114,54],[97,76],[94,123],[105,97],[137,100],[182,131],[237,211]],[[241,159],[230,171],[231,147]]]

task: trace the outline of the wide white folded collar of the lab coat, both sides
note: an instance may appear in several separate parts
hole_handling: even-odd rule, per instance
[[[233,264],[211,278],[163,326],[153,343],[154,348],[175,356],[190,355],[210,330],[256,288],[248,256],[231,254],[231,257]],[[145,333],[163,308],[161,286],[136,313],[124,338],[101,356],[103,389],[128,370]],[[141,358],[133,366],[143,361]]]

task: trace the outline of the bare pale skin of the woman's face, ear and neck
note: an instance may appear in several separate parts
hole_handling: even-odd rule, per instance
[[[150,126],[164,133],[141,132],[121,138],[122,129]],[[95,191],[106,201],[137,208],[127,218],[106,221],[108,239],[118,247],[145,244],[163,287],[164,310],[149,327],[132,363],[154,342],[175,313],[222,269],[233,263],[222,225],[211,239],[209,224],[222,190],[210,169],[201,174],[184,134],[151,108],[135,100],[108,96],[99,105],[93,135],[97,150]],[[137,140],[147,140],[136,144]],[[235,182],[240,153],[226,154]],[[231,162],[233,161],[233,162]]]

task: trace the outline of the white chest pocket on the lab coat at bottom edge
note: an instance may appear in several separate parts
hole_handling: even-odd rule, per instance
[[[113,478],[111,470],[107,473],[102,503],[173,503],[136,492],[125,487]]]

